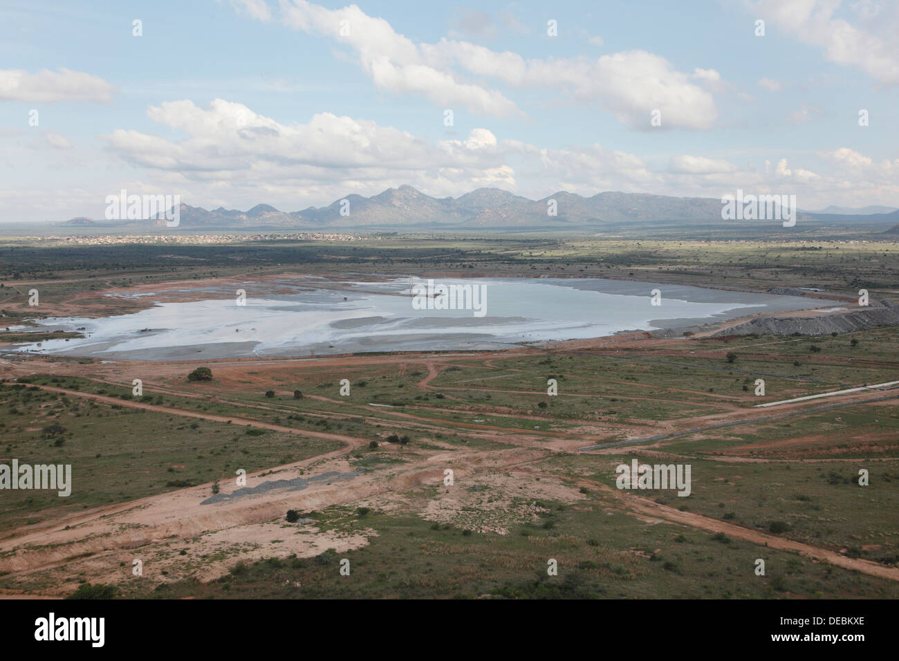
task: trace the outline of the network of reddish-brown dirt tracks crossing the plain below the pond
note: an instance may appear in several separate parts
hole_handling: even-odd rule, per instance
[[[239,277],[222,279],[220,283],[231,283]],[[195,287],[197,282],[167,283],[165,289],[175,290],[185,284]],[[139,289],[141,288],[131,288],[129,291]],[[158,284],[146,285],[144,289],[159,290],[160,286]],[[92,296],[95,295],[92,293]],[[173,292],[171,296],[176,297],[177,294]],[[73,301],[73,304],[76,305],[77,301]],[[734,320],[733,323],[736,324],[737,322],[738,320]],[[616,335],[595,340],[557,343],[554,346],[561,353],[580,353],[582,351],[614,352],[625,347],[635,352],[652,349],[656,352],[653,353],[653,358],[655,359],[662,356],[683,355],[681,349],[678,349],[676,346],[677,344],[682,344],[682,342],[680,339],[660,339],[640,333]],[[725,348],[723,347],[721,350],[709,350],[708,352],[700,352],[698,355],[720,357],[724,352]],[[504,352],[468,354],[405,353],[402,355],[383,356],[331,356],[314,359],[225,359],[207,361],[203,364],[213,365],[217,371],[217,376],[220,375],[223,381],[233,383],[235,386],[238,380],[247,378],[246,373],[248,369],[264,372],[269,369],[273,370],[277,367],[290,365],[297,367],[298,371],[304,369],[338,371],[346,368],[389,365],[396,366],[397,372],[400,375],[405,375],[411,365],[423,365],[427,370],[427,374],[416,383],[416,387],[423,392],[427,392],[433,389],[432,381],[439,377],[442,371],[457,362],[462,365],[470,364],[470,362],[479,362],[488,367],[499,369],[494,365],[494,361],[497,359],[508,359],[514,356],[525,355],[544,355],[546,353],[547,349],[518,348]],[[628,352],[616,354],[615,357],[624,358],[640,355],[639,353],[628,353],[626,356],[626,353]],[[181,397],[209,397],[188,393],[172,385],[176,380],[183,379],[185,366],[193,364],[190,361],[171,363],[116,361],[110,364],[93,364],[91,370],[103,375],[103,378],[98,378],[96,379],[97,381],[117,385],[129,382],[129,379],[121,378],[124,373],[139,370],[141,374],[147,374],[147,378],[144,380],[144,387],[147,392],[154,391]],[[34,358],[23,360],[18,364],[8,363],[0,365],[0,371],[7,378],[25,376],[31,373],[31,371],[40,370],[41,368],[52,369],[56,374],[67,374],[70,376],[78,376],[84,370],[83,366],[74,363],[54,362],[50,364]],[[260,377],[254,383],[261,383],[266,378],[264,376]],[[497,385],[500,383],[502,381],[497,382]],[[624,384],[625,382],[620,381],[620,383]],[[656,392],[659,392],[659,389],[651,384],[627,382],[627,385],[643,386],[646,389],[655,389]],[[368,438],[354,437],[341,433],[298,429],[248,418],[210,414],[175,406],[158,406],[133,400],[122,400],[118,397],[94,395],[87,392],[49,386],[40,386],[40,388],[64,393],[67,397],[83,397],[104,404],[129,406],[165,415],[199,418],[218,423],[230,422],[236,425],[254,426],[282,433],[344,443],[343,448],[337,451],[331,451],[314,458],[278,466],[273,469],[256,471],[254,474],[247,476],[247,485],[254,487],[258,487],[266,481],[296,478],[301,474],[303,476],[313,476],[330,472],[343,474],[352,472],[352,465],[347,455],[369,442]],[[441,392],[446,391],[449,398],[452,398],[449,393],[464,393],[466,390],[467,388],[465,388],[464,384],[458,384],[458,387],[441,386]],[[478,390],[479,392],[521,394],[521,391],[508,389],[479,388]],[[697,430],[706,431],[725,425],[747,424],[760,419],[758,410],[752,411],[752,409],[736,406],[732,398],[723,395],[707,395],[706,393],[697,393],[690,389],[669,388],[666,390],[684,394],[702,394],[708,397],[708,400],[711,402],[709,406],[718,409],[718,411],[710,415],[699,415],[658,423],[659,437],[653,437],[656,441],[672,438],[676,434],[695,433]],[[533,392],[531,394],[544,393]],[[572,394],[571,396],[590,397],[589,394]],[[836,399],[834,406],[859,404],[868,401],[870,399],[869,396],[870,393],[856,393],[834,397]],[[271,549],[275,548],[265,546],[272,540],[282,542],[277,547],[278,553],[281,555],[294,552],[300,557],[316,555],[325,548],[334,548],[339,551],[357,548],[367,543],[368,537],[365,534],[343,539],[327,534],[316,535],[315,540],[310,541],[307,536],[284,537],[285,533],[280,530],[280,523],[276,522],[280,521],[284,512],[289,508],[322,510],[330,505],[357,505],[360,502],[371,502],[372,499],[378,499],[379,503],[387,506],[394,506],[400,502],[403,494],[421,491],[423,487],[440,484],[442,470],[448,465],[452,466],[458,476],[496,474],[514,469],[515,471],[523,471],[531,475],[540,475],[544,485],[561,490],[563,487],[560,486],[557,476],[541,472],[535,464],[551,456],[554,452],[574,452],[579,446],[583,446],[585,442],[601,441],[604,435],[607,435],[603,433],[552,432],[548,430],[522,431],[511,427],[489,424],[443,423],[432,417],[409,413],[408,411],[415,410],[414,405],[405,406],[403,411],[381,407],[375,410],[373,407],[364,404],[345,405],[343,402],[330,397],[318,395],[307,395],[307,397],[319,402],[333,404],[334,406],[344,406],[346,408],[352,406],[352,410],[356,411],[356,413],[347,413],[344,410],[338,414],[334,410],[325,409],[316,410],[309,415],[324,418],[337,415],[343,417],[355,415],[367,423],[403,420],[407,422],[406,426],[410,431],[414,429],[428,434],[446,431],[448,425],[451,425],[452,433],[460,437],[472,439],[489,438],[501,441],[507,447],[500,450],[495,448],[474,449],[460,447],[459,445],[441,445],[435,439],[429,438],[429,444],[438,447],[438,449],[435,450],[431,447],[426,451],[406,451],[398,445],[384,443],[383,451],[396,453],[397,456],[403,453],[402,456],[405,463],[379,470],[373,474],[361,474],[351,478],[334,479],[334,481],[310,482],[307,487],[298,491],[273,490],[254,496],[235,498],[222,503],[202,504],[209,497],[210,485],[206,484],[150,496],[129,503],[109,505],[78,514],[70,514],[52,523],[38,523],[23,527],[16,531],[15,536],[0,540],[0,572],[7,571],[16,576],[40,576],[42,572],[53,570],[66,572],[70,576],[77,575],[79,572],[85,572],[87,576],[94,576],[102,581],[115,582],[121,580],[121,571],[118,569],[120,562],[126,562],[129,566],[130,559],[138,556],[153,558],[153,561],[159,566],[170,567],[173,576],[178,577],[178,567],[186,561],[183,558],[179,558],[181,551],[186,553],[186,557],[189,560],[199,562],[199,558],[214,555],[221,549],[241,549],[240,553],[244,554],[242,557],[263,558],[265,553],[271,554]],[[246,408],[271,411],[279,410],[278,408],[261,404],[240,404],[230,401],[227,399],[227,392],[221,397],[212,396],[210,398],[227,403],[229,406],[244,406]],[[678,401],[666,399],[664,391],[654,396],[647,394],[647,397],[628,396],[627,398],[645,398],[647,400],[666,402]],[[429,410],[448,413],[459,412],[458,408],[441,408],[440,406],[429,406]],[[480,410],[483,413],[484,409]],[[779,415],[803,415],[809,410],[814,410],[814,406],[804,402],[778,407]],[[497,410],[491,415],[502,416],[504,414],[502,411]],[[514,415],[514,417],[527,418],[529,416],[518,414]],[[542,419],[536,416],[531,417],[534,420]],[[765,419],[767,418],[770,418],[770,416],[765,416]],[[574,422],[583,425],[598,425],[595,421],[589,420],[574,420]],[[619,428],[628,428],[630,430],[628,433],[634,433],[634,442],[645,443],[647,441],[647,439],[641,439],[637,435],[645,433],[645,431],[641,430],[636,424],[619,423]],[[802,439],[802,441],[808,442],[809,440]],[[780,446],[783,446],[783,443]],[[761,447],[761,445],[756,445],[753,446],[753,449]],[[774,447],[774,445],[772,444],[771,447]],[[731,449],[731,452],[736,454],[734,449]],[[743,456],[710,459],[734,462],[766,461],[765,459]],[[268,474],[271,472],[273,472],[273,475],[270,477]],[[261,476],[262,473],[267,475]],[[809,546],[699,514],[681,512],[667,505],[657,504],[642,496],[620,492],[593,481],[582,481],[584,486],[589,486],[593,489],[599,488],[603,496],[609,497],[620,510],[641,517],[652,517],[656,520],[685,525],[698,530],[725,532],[725,534],[735,539],[749,541],[761,547],[788,550],[808,558],[826,561],[836,567],[859,571],[869,576],[878,576],[894,581],[899,580],[899,569],[895,567],[886,567],[859,558],[848,558],[829,549]],[[222,493],[226,495],[231,495],[235,491],[236,486],[232,484],[225,484],[222,487]],[[14,553],[10,552],[13,550],[15,551]],[[233,564],[233,562],[234,557],[227,556],[223,560],[209,563],[200,572],[191,576],[198,577],[200,580],[209,580],[209,578],[225,573],[227,567]],[[57,592],[61,594],[71,588],[72,585],[67,587],[61,586]],[[0,598],[3,596],[3,594],[0,594]]]

